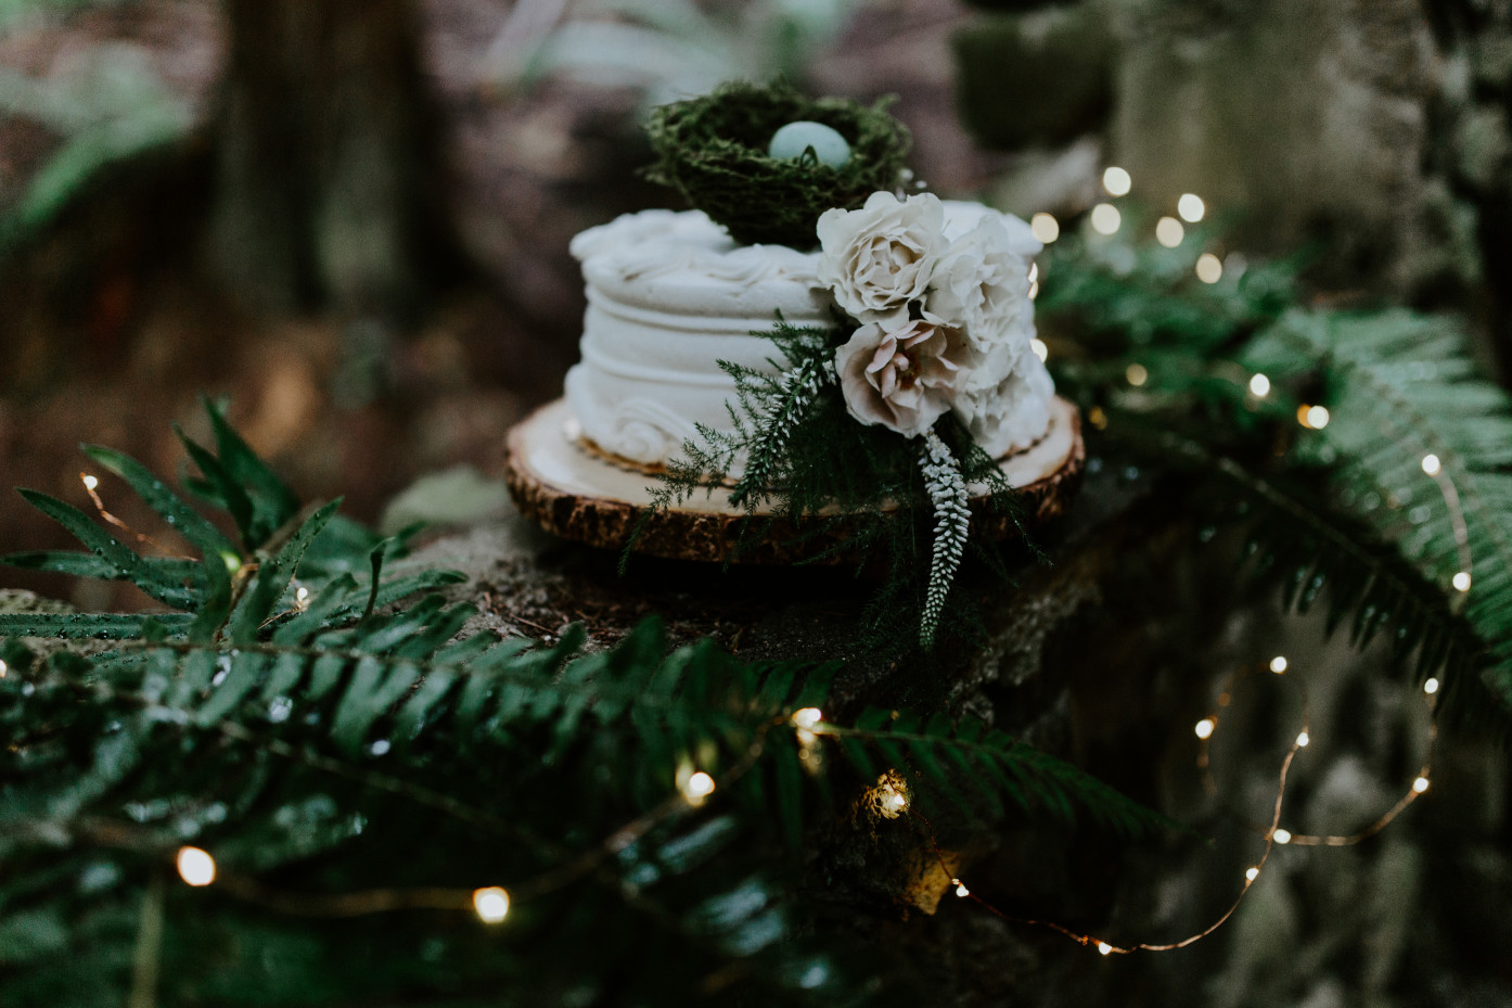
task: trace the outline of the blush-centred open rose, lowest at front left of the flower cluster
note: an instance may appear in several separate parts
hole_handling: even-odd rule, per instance
[[[951,409],[963,356],[959,330],[927,319],[866,322],[835,351],[845,409],[862,424],[922,434]]]

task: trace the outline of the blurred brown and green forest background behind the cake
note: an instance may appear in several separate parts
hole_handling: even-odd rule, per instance
[[[1468,310],[1504,371],[1509,24],[1503,0],[0,0],[0,475],[60,492],[80,440],[171,468],[201,390],[360,518],[496,472],[576,354],[567,239],[667,201],[640,114],[779,73],[898,95],[942,194],[1066,221],[1119,163],[1237,250],[1314,250],[1320,297]],[[0,551],[59,534],[0,502]]]

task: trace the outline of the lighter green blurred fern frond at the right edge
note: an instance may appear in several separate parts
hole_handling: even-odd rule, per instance
[[[1448,631],[1409,631],[1421,637],[1418,674],[1447,667],[1445,701],[1458,705],[1452,680],[1479,672],[1512,708],[1512,397],[1477,377],[1445,318],[1294,313],[1256,339],[1252,357],[1285,350],[1326,369],[1329,424],[1297,454],[1331,466],[1331,506],[1396,543],[1483,642],[1477,658]],[[1467,592],[1453,586],[1461,574]]]

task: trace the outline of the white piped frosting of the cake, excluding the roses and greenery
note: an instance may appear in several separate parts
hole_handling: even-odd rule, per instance
[[[969,232],[983,213],[995,210],[947,201],[947,236]],[[1007,215],[1004,222],[1025,256],[1039,250],[1028,224]],[[572,253],[588,310],[567,404],[588,439],[632,462],[677,457],[697,425],[730,428],[735,381],[718,362],[776,372],[777,347],[753,333],[771,331],[779,312],[792,325],[833,324],[818,253],[738,245],[702,210],[626,213],[573,238]],[[1048,421],[1049,392],[1033,384],[1043,409],[1016,404],[1025,424],[1013,446],[1040,437]]]

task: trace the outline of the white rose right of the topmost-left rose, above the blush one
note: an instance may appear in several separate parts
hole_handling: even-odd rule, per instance
[[[1002,213],[984,212],[940,253],[925,306],[965,330],[971,387],[996,386],[1009,375],[1034,334],[1034,304],[1030,260],[1016,250]]]

